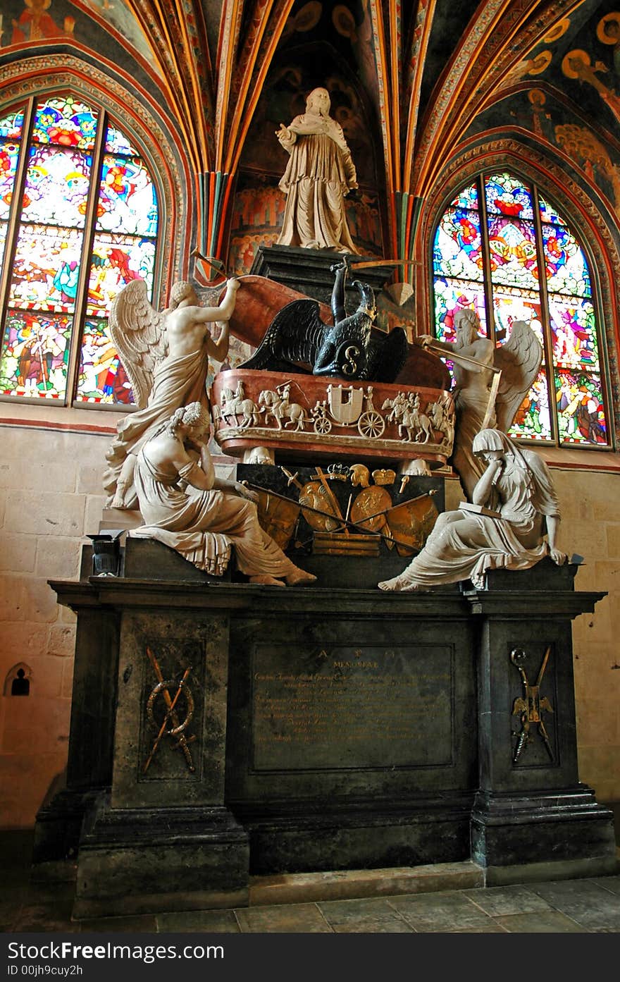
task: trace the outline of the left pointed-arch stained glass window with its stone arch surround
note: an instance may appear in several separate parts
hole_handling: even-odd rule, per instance
[[[43,71],[42,59],[27,59],[18,78],[0,86],[0,104],[26,113],[14,206],[3,222],[11,249],[0,283],[3,395],[122,407],[130,387],[108,333],[110,300],[140,276],[157,304],[174,271],[165,259],[181,261],[180,160],[161,118],[118,80],[67,57],[62,71],[50,72],[49,61]],[[71,145],[67,127],[78,127],[67,131]],[[24,260],[30,248],[33,273],[12,259],[15,250]]]

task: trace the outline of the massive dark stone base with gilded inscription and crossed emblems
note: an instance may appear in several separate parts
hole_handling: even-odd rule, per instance
[[[76,916],[238,906],[279,872],[615,869],[575,739],[571,621],[603,594],[549,561],[387,594],[356,585],[375,560],[323,560],[338,585],[270,588],[129,539],[121,576],[52,583],[76,681],[35,858],[78,852]]]

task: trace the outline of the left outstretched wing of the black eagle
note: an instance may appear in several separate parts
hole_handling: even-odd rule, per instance
[[[325,333],[331,330],[319,316],[317,300],[293,300],[276,314],[254,355],[239,367],[290,371],[301,364],[312,370]]]

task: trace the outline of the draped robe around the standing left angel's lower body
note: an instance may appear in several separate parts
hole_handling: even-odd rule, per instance
[[[188,355],[169,355],[159,363],[153,373],[148,404],[144,409],[136,409],[118,425],[117,435],[106,454],[108,466],[104,471],[103,486],[110,496],[114,496],[128,455],[137,454],[175,409],[193,402],[209,409],[205,388],[208,363],[206,343]],[[129,505],[137,507],[135,502]]]

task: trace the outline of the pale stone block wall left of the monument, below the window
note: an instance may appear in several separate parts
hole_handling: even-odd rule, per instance
[[[84,534],[98,530],[110,437],[0,432],[0,826],[28,827],[62,775],[69,740],[76,619],[47,579],[76,577]],[[11,696],[20,664],[29,694]]]

